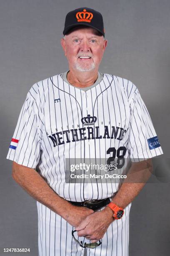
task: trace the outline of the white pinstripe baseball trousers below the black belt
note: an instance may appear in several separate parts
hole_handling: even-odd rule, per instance
[[[101,246],[87,249],[87,256],[128,256],[129,213],[131,203],[124,209],[121,220],[113,221],[101,239]],[[100,208],[97,211],[104,209]],[[38,248],[41,256],[83,256],[84,248],[72,239],[72,227],[67,221],[37,202],[38,211]],[[78,241],[89,243],[89,240],[78,237]]]

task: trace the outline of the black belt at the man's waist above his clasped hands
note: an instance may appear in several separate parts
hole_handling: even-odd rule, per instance
[[[85,206],[92,210],[97,210],[105,205],[108,205],[111,201],[110,201],[110,198],[108,197],[100,200],[87,200],[84,202],[73,202],[73,201],[68,201],[68,202],[70,202],[72,205]]]

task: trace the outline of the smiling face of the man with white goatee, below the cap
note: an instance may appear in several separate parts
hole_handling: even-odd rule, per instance
[[[98,70],[107,40],[103,36],[96,36],[93,28],[78,28],[62,38],[61,45],[69,67],[86,72]]]

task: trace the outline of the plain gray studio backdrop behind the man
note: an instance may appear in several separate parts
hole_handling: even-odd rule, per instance
[[[12,178],[7,151],[30,87],[67,70],[60,38],[65,15],[90,7],[103,15],[108,46],[100,71],[139,89],[168,157],[170,1],[0,1],[0,256],[3,248],[30,248],[37,256],[37,207]],[[130,256],[170,254],[169,182],[148,183],[130,213]],[[11,255],[12,253],[6,253]],[[15,253],[15,255],[21,255]]]

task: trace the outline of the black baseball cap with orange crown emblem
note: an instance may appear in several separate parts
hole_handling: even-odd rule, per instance
[[[103,18],[101,13],[97,12],[96,10],[82,7],[67,13],[65,17],[63,35],[67,34],[70,29],[76,26],[87,26],[90,28],[95,28],[105,37]]]

